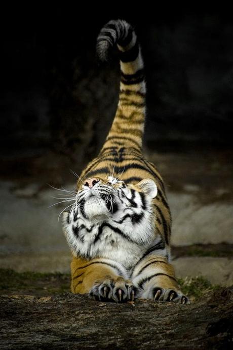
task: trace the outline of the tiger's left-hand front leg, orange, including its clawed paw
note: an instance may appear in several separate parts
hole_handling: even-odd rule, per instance
[[[125,268],[111,259],[84,260],[73,257],[71,262],[72,293],[88,293],[94,300],[123,302],[134,300],[136,288],[128,279]]]

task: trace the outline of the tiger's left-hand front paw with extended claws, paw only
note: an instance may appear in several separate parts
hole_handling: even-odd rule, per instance
[[[133,301],[136,287],[131,281],[122,277],[112,279],[110,276],[102,282],[96,281],[89,292],[89,297],[94,300],[112,300],[116,302]]]

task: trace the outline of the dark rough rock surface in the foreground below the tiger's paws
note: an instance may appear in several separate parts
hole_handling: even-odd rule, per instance
[[[232,346],[233,290],[190,305],[107,303],[86,295],[0,297],[1,349],[226,349]]]

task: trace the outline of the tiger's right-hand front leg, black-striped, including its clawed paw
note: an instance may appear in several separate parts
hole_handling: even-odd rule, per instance
[[[131,278],[138,288],[138,297],[189,303],[189,299],[179,290],[174,267],[165,257],[153,254],[146,256],[136,264]]]

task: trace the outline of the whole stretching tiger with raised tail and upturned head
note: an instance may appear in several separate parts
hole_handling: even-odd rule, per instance
[[[98,157],[77,182],[74,205],[63,217],[73,254],[71,290],[95,300],[142,297],[188,303],[170,264],[171,215],[164,183],[142,155],[143,60],[136,34],[123,20],[101,29],[97,54],[102,61],[114,45],[121,64],[117,112]]]

